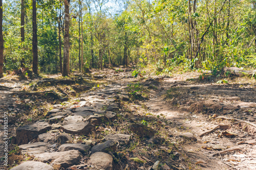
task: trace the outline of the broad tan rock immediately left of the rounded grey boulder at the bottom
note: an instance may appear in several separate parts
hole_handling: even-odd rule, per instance
[[[79,163],[81,155],[79,151],[70,150],[64,152],[43,153],[34,155],[34,160],[49,163],[62,168],[68,168]]]

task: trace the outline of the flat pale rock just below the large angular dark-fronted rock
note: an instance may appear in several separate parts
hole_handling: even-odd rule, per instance
[[[49,149],[49,144],[46,142],[35,142],[29,144],[22,144],[18,146],[22,149],[22,153],[28,156],[45,153]]]

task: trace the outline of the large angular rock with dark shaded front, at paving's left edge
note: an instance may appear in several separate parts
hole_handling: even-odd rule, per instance
[[[16,144],[27,144],[38,137],[39,134],[46,133],[51,129],[47,122],[36,122],[32,125],[18,127],[16,129]]]

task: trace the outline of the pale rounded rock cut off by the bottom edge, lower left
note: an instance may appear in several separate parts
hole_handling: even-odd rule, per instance
[[[11,168],[12,170],[54,170],[54,168],[46,163],[37,162],[37,161],[27,161],[23,162],[18,166]]]

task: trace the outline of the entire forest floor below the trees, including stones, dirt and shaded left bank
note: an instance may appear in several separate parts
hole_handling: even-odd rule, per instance
[[[91,71],[0,79],[0,169],[28,169],[22,162],[32,167],[32,160],[52,166],[41,169],[148,170],[157,169],[158,160],[158,169],[256,169],[254,79],[207,72],[203,80],[200,72],[134,78],[133,69],[123,67]],[[223,79],[228,83],[217,84]]]

